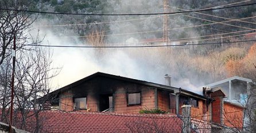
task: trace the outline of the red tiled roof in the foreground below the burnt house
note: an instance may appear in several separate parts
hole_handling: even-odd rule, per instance
[[[99,112],[44,111],[43,132],[156,132],[154,125],[168,132],[181,132],[176,115],[121,115]],[[152,129],[150,129],[151,127]],[[145,132],[144,131],[144,132]]]

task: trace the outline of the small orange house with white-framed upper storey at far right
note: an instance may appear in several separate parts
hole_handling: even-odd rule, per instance
[[[235,130],[246,127],[249,120],[246,113],[250,114],[247,111],[250,110],[251,85],[251,79],[238,76],[205,85],[204,96],[214,99],[210,105],[212,128],[224,132],[223,129],[227,128],[223,127]]]

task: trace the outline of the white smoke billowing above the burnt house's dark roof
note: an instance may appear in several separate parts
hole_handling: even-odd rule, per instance
[[[110,1],[114,2],[114,1]],[[115,2],[114,2],[115,3]],[[129,3],[128,5],[126,3]],[[117,4],[117,3],[115,3]],[[131,6],[132,4],[132,6]],[[147,3],[148,6],[160,5],[161,2],[150,1]],[[113,9],[114,11],[125,11],[125,13],[134,13],[134,11],[139,10],[140,13],[147,13],[143,5],[145,1],[137,2],[119,2],[119,5],[116,5],[117,8]],[[152,9],[152,13],[162,12],[161,7],[157,6],[156,10]],[[131,9],[133,7],[133,9]],[[128,11],[128,12],[127,12]],[[119,13],[119,12],[115,12]],[[145,17],[145,16],[143,16]],[[138,18],[142,18],[141,16]],[[115,20],[123,20],[124,18],[118,17]],[[47,25],[46,19],[38,21],[34,25]],[[162,28],[162,19],[153,19],[154,24],[146,22],[145,24],[140,24],[139,26],[133,24],[132,22],[127,22],[126,24],[111,24],[110,29],[113,30],[111,33],[129,33],[129,32],[139,32],[141,29],[140,26],[143,26],[144,29],[153,28],[159,30]],[[40,24],[40,22],[42,22]],[[37,28],[37,27],[36,27]],[[61,28],[61,27],[60,27]],[[148,29],[150,30],[150,29]],[[79,36],[75,31],[70,30],[70,32],[65,32],[69,34],[61,34],[61,36]],[[58,33],[60,34],[60,33]],[[159,34],[159,33],[158,33]],[[45,45],[57,45],[57,46],[77,46],[77,45],[88,45],[79,38],[60,38],[56,37],[56,33],[53,33],[51,28],[40,28],[40,36],[45,36],[44,44]],[[148,37],[157,37],[158,35],[151,34]],[[130,38],[127,36],[126,38]],[[133,36],[134,37],[134,36]],[[139,37],[138,34],[135,34],[135,37]],[[125,39],[122,38],[122,39]],[[119,37],[108,37],[108,40],[113,42],[125,42]],[[156,52],[147,52],[144,50],[143,53],[134,52],[137,49],[103,49],[104,55],[97,57],[97,49],[92,48],[50,48],[53,50],[53,67],[62,68],[59,75],[52,79],[52,87],[58,89],[64,87],[65,85],[71,84],[77,80],[80,80],[86,76],[89,76],[95,72],[104,72],[110,73],[113,75],[119,75],[124,77],[130,77],[138,80],[150,81],[153,83],[165,84],[164,75],[169,74],[172,76],[172,86],[178,88],[188,89],[189,91],[200,92],[199,88],[203,83],[197,81],[193,77],[183,77],[185,71],[179,71],[177,67],[174,67],[175,60],[169,58],[168,61],[173,62],[173,64],[166,65],[166,60],[162,60],[161,57],[158,57],[159,51]],[[134,55],[133,53],[136,53]],[[179,53],[179,52],[178,52]],[[194,74],[194,73],[193,73]],[[193,81],[191,81],[193,79]]]

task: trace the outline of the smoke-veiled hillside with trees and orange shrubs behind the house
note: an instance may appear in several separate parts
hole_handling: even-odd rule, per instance
[[[154,0],[27,0],[26,2],[29,3],[27,10],[56,13],[164,12],[163,1]],[[107,72],[116,75],[162,83],[160,77],[169,73],[173,77],[173,84],[177,87],[200,87],[200,85],[230,76],[256,79],[254,67],[256,52],[255,45],[253,45],[255,41],[250,41],[256,40],[254,34],[256,6],[248,5],[254,2],[169,0],[168,12],[247,6],[168,14],[169,43],[176,45],[177,42],[185,40],[185,44],[196,44],[193,46],[137,49],[98,48],[94,49],[93,54],[90,53],[92,51],[82,53],[83,56],[84,54],[90,55],[90,60],[97,67],[107,69]],[[163,21],[163,15],[38,14],[33,25],[46,36],[55,38],[52,41],[51,38],[45,38],[49,39],[50,45],[55,45],[56,41],[59,41],[59,45],[80,45],[81,43],[92,46],[153,45],[153,42],[145,40],[163,37]],[[127,40],[137,44],[125,44]],[[147,43],[138,43],[141,41]],[[72,50],[69,51],[71,52]],[[193,87],[189,86],[191,84]]]

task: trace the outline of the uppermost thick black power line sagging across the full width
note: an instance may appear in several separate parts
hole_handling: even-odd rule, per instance
[[[251,6],[251,5],[255,5],[255,4],[256,3],[249,3],[249,4],[237,5],[237,6],[218,7],[218,8],[200,9],[200,10],[189,10],[189,11],[177,11],[177,12],[171,12],[171,13],[138,13],[138,14],[56,13],[56,12],[46,12],[46,11],[18,10],[18,9],[5,9],[5,8],[0,8],[0,10],[21,11],[21,12],[27,12],[27,13],[41,13],[41,14],[61,14],[61,15],[104,15],[104,16],[108,15],[108,16],[123,16],[123,15],[163,15],[163,14],[193,13],[193,12],[200,12],[200,11],[210,11],[210,10],[229,9],[229,8],[242,7],[242,6]]]

